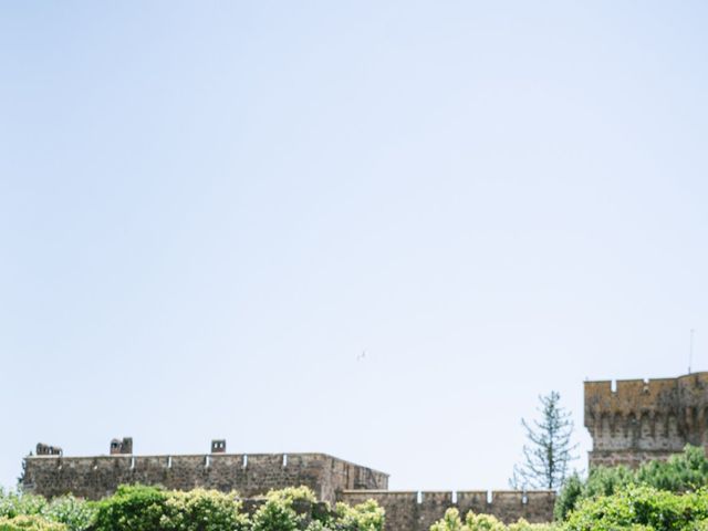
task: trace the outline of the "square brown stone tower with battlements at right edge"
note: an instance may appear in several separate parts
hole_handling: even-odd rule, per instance
[[[636,467],[708,442],[708,373],[585,382],[590,466]]]

